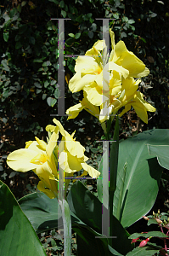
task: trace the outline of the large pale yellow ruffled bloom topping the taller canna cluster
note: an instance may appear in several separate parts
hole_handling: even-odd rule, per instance
[[[149,74],[143,61],[128,51],[123,41],[115,45],[115,34],[111,30],[110,38],[110,57],[104,40],[99,40],[87,50],[85,56],[76,59],[76,74],[69,83],[72,92],[84,90],[87,100],[94,106],[101,106],[107,101],[106,93],[110,96],[118,94],[122,79],[141,78]]]

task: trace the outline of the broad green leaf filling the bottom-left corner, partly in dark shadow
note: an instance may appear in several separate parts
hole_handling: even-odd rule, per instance
[[[8,186],[0,181],[0,255],[46,255]]]

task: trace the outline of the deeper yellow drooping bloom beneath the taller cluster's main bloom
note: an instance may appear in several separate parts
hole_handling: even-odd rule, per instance
[[[88,113],[98,118],[99,122],[103,124],[104,121],[110,119],[110,115],[115,115],[120,108],[125,107],[119,115],[121,117],[133,107],[138,117],[147,124],[147,111],[155,112],[155,108],[144,101],[144,95],[137,91],[140,82],[140,79],[135,80],[130,77],[122,79],[121,91],[116,95],[110,96],[110,99],[104,101],[100,107],[94,106],[91,102],[88,102],[86,92],[84,92],[82,102],[67,109],[66,113],[69,115],[68,119],[76,118],[82,109],[85,109]]]

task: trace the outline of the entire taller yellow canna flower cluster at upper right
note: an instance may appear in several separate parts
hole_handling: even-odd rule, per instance
[[[147,111],[155,112],[155,108],[144,101],[138,84],[140,78],[149,74],[149,69],[127,50],[123,41],[115,44],[111,30],[110,38],[110,56],[104,40],[99,40],[84,56],[76,59],[76,74],[70,79],[69,89],[73,93],[83,90],[83,99],[67,109],[68,119],[75,119],[85,109],[103,123],[120,108],[124,107],[121,116],[133,107],[138,117],[148,123]]]

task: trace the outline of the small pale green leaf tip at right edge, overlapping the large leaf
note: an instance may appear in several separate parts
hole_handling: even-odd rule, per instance
[[[169,142],[168,145],[148,145],[149,154],[156,155],[159,165],[169,170]]]

